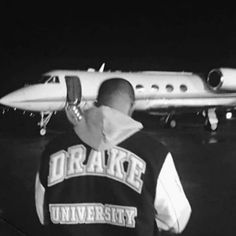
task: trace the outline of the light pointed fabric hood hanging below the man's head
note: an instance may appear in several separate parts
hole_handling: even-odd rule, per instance
[[[142,129],[140,122],[107,106],[86,110],[74,130],[79,138],[95,150],[106,150]]]

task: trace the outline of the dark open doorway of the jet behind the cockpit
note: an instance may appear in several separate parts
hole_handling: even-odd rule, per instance
[[[82,88],[78,76],[65,76],[67,87],[67,101],[68,103],[80,104],[82,99]]]

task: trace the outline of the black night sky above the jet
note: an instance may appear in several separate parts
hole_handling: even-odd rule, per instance
[[[98,69],[102,62],[125,71],[236,68],[233,6],[99,4],[3,4],[1,80],[8,84],[2,87],[36,81],[51,69]]]

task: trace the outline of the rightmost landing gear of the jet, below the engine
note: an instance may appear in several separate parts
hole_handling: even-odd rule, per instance
[[[218,118],[216,115],[216,109],[210,108],[207,111],[203,112],[203,116],[205,116],[204,127],[207,131],[215,132],[218,128]]]

